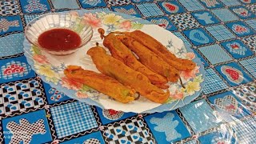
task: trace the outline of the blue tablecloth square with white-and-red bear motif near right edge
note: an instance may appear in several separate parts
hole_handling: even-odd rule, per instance
[[[254,53],[240,40],[222,42],[221,45],[230,52],[234,58],[245,58]]]

